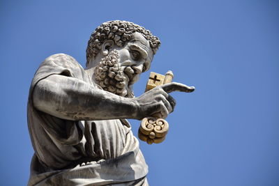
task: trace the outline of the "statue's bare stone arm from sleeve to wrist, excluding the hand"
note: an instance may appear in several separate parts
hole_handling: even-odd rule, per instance
[[[136,118],[137,102],[61,75],[40,80],[33,91],[36,109],[68,120]]]

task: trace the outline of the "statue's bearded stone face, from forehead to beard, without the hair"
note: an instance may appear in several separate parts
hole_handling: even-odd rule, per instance
[[[114,45],[107,56],[100,58],[94,68],[95,82],[105,91],[133,98],[133,84],[142,72],[149,70],[153,52],[142,34],[133,33],[123,47]]]

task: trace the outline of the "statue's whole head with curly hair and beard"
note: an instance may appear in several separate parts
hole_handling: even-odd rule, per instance
[[[160,40],[142,26],[110,21],[91,34],[86,49],[86,68],[105,91],[133,97],[133,84],[149,70]]]

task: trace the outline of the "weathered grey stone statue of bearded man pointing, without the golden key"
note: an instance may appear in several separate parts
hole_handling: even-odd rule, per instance
[[[35,151],[28,185],[148,185],[148,166],[127,118],[166,118],[168,93],[194,87],[169,83],[135,98],[133,84],[149,70],[160,41],[126,21],[101,24],[89,39],[86,69],[54,54],[36,71],[28,101]]]

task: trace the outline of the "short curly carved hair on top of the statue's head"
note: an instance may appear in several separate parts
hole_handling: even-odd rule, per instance
[[[115,20],[104,22],[91,34],[86,48],[87,63],[89,63],[90,59],[94,59],[98,52],[100,52],[105,40],[114,40],[117,46],[123,47],[125,42],[132,38],[134,32],[142,33],[142,36],[146,40],[149,40],[153,54],[156,54],[157,49],[160,47],[160,40],[156,36],[153,36],[151,31],[133,22]]]

